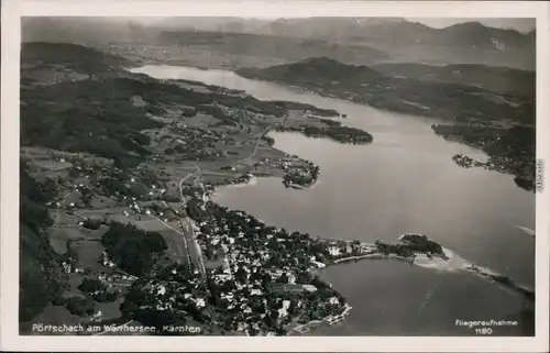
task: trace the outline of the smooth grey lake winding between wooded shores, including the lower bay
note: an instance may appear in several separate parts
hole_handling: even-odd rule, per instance
[[[131,69],[160,79],[189,79],[241,89],[258,98],[336,109],[345,125],[374,136],[369,145],[344,145],[297,133],[272,133],[275,147],[321,168],[318,184],[286,189],[279,179],[222,187],[215,200],[267,224],[321,238],[395,241],[418,232],[476,265],[535,286],[535,195],[513,177],[464,169],[451,157],[479,150],[444,141],[431,131],[436,119],[381,111],[301,89],[242,78],[232,71],[150,65]],[[519,227],[519,228],[518,228]],[[362,261],[328,268],[322,276],[353,307],[345,322],[314,334],[463,335],[473,329],[455,320],[518,320],[494,334],[532,334],[522,299],[464,273],[444,273],[392,261]]]

